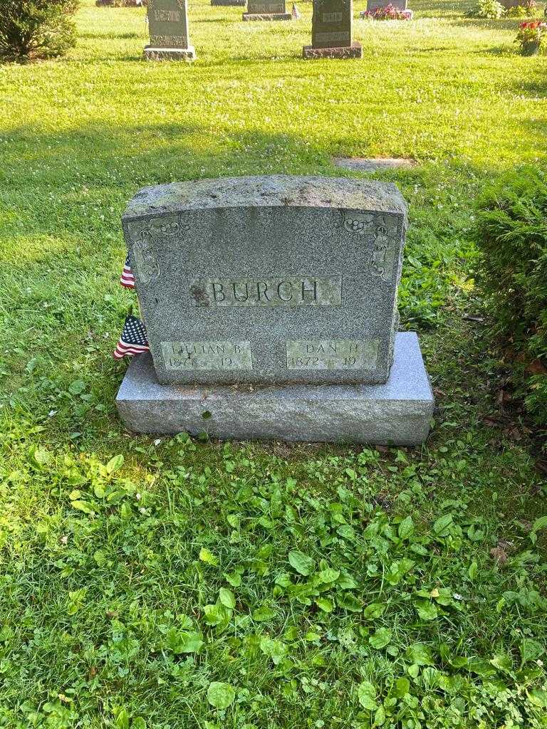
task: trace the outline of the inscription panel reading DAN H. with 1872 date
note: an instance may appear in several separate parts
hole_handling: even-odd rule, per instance
[[[289,340],[289,370],[373,370],[378,361],[379,340]]]

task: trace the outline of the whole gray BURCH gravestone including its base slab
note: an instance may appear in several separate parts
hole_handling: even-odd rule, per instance
[[[397,332],[393,184],[264,176],[141,190],[123,215],[150,353],[117,397],[138,432],[421,443],[432,394]]]

